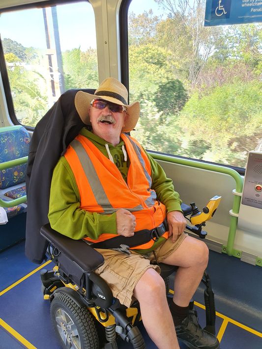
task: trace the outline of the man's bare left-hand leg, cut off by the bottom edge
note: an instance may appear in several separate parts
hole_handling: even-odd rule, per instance
[[[165,283],[154,270],[147,269],[134,289],[149,337],[159,349],[179,349],[174,322],[168,307]]]

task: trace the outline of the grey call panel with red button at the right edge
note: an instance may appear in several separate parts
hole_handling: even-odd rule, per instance
[[[262,208],[262,153],[250,151],[244,180],[242,204]]]

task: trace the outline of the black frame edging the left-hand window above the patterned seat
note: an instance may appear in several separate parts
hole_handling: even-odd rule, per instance
[[[90,3],[88,0],[47,0],[47,1],[31,2],[31,3],[24,4],[24,5],[15,5],[15,6],[1,8],[0,14],[5,13],[5,12],[26,10],[26,9],[31,9],[31,8],[51,7],[51,6],[62,5],[62,4],[66,4],[66,3],[80,2],[80,1],[86,1],[86,2]],[[22,125],[27,130],[33,131],[34,130],[33,126],[21,124],[21,122],[19,122],[19,120],[16,117],[14,103],[13,103],[13,97],[12,97],[12,91],[11,91],[9,78],[8,78],[7,66],[6,66],[6,62],[5,62],[5,58],[4,58],[2,40],[0,40],[0,74],[1,74],[2,83],[3,83],[3,90],[4,90],[5,99],[6,99],[7,110],[8,110],[8,114],[9,114],[11,121],[13,122],[14,125]]]

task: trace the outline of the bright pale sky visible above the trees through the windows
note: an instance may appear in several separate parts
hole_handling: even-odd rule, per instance
[[[158,5],[154,0],[133,0],[129,11],[136,14],[153,9],[157,14]],[[52,18],[51,10],[47,16]],[[94,12],[86,1],[57,6],[61,51],[81,47],[96,48]],[[52,25],[50,25],[52,30]],[[87,35],[88,33],[88,35]],[[25,47],[46,49],[46,37],[42,9],[27,9],[0,15],[1,39],[10,38]]]

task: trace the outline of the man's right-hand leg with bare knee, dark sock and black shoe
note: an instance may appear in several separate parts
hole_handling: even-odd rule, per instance
[[[207,261],[205,243],[187,236],[162,262],[179,266],[175,275],[174,303],[170,304],[177,337],[190,348],[219,349],[217,338],[202,330],[196,314],[189,310],[189,302],[201,282]]]

